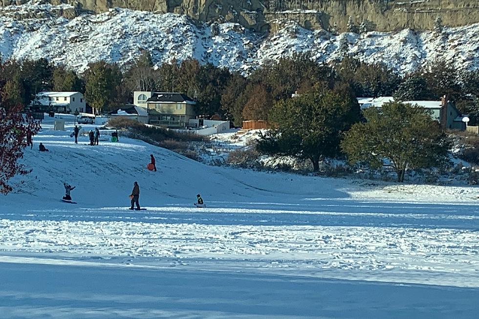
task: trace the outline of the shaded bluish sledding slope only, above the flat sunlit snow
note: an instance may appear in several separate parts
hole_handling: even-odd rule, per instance
[[[6,201],[38,201],[48,207],[69,205],[59,201],[64,195],[63,182],[76,186],[72,198],[82,207],[128,206],[134,181],[140,185],[142,206],[190,204],[197,193],[207,202],[250,202],[252,197],[255,201],[284,202],[291,196],[347,196],[335,191],[332,184],[337,182],[328,179],[210,167],[127,138],[89,146],[88,137],[79,136],[79,143],[74,144],[68,135],[71,125],[65,132],[45,129],[45,123],[43,126],[44,131],[34,138],[34,148],[25,149],[23,162],[32,172],[14,179],[16,191],[6,196]],[[49,152],[38,150],[40,142]],[[157,172],[146,168],[152,153]]]

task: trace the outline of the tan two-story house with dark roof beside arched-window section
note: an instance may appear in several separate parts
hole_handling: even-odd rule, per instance
[[[134,94],[135,101],[138,98],[144,101],[144,93]],[[146,101],[149,124],[165,126],[169,128],[184,128],[190,119],[196,118],[196,102],[182,93],[152,92]],[[145,105],[142,105],[145,106]]]

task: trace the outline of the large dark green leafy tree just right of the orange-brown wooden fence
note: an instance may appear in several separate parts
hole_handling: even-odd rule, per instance
[[[321,159],[340,154],[340,140],[359,120],[359,106],[345,87],[324,89],[279,101],[269,120],[277,129],[261,135],[258,150],[309,159],[317,171]]]

